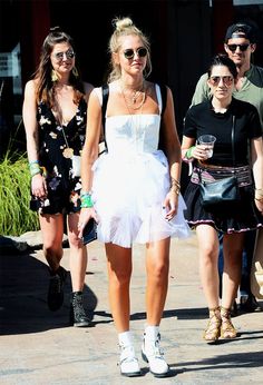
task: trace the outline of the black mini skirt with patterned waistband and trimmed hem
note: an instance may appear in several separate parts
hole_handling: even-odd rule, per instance
[[[213,181],[236,175],[241,199],[227,208],[221,205],[205,209],[202,206],[199,180]],[[211,225],[216,230],[233,234],[254,230],[263,227],[263,217],[254,204],[254,187],[251,169],[244,167],[194,167],[191,181],[185,190],[185,219],[192,228],[198,225]]]

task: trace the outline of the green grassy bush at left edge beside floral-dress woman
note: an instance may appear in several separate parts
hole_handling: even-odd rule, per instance
[[[7,151],[0,160],[0,235],[19,236],[39,229],[30,210],[30,174],[26,154]]]

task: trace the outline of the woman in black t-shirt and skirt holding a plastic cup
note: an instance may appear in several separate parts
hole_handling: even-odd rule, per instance
[[[187,206],[185,218],[193,228],[196,228],[199,245],[201,279],[210,308],[210,322],[204,333],[204,338],[207,342],[214,342],[218,337],[236,337],[236,330],[230,317],[230,308],[240,284],[244,231],[262,226],[263,155],[261,124],[254,106],[232,97],[235,79],[234,62],[224,55],[216,56],[208,69],[207,82],[212,91],[212,99],[189,108],[186,113],[182,142],[183,159],[191,164],[194,161],[194,170],[185,191]],[[232,154],[233,125],[235,132],[234,165]],[[198,137],[206,134],[216,137],[211,158],[207,158],[205,146],[196,144]],[[230,177],[233,171],[238,179],[240,203],[227,207],[227,209],[221,206],[205,209],[201,201],[199,179],[210,182]],[[224,236],[221,307],[217,231],[222,231]]]

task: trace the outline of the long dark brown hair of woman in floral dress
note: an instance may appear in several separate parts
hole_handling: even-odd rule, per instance
[[[50,28],[49,34],[46,37],[42,48],[41,48],[41,55],[40,55],[40,61],[38,69],[35,73],[35,79],[37,80],[37,91],[36,91],[36,98],[37,101],[45,101],[50,107],[53,105],[53,85],[55,82],[51,80],[51,60],[50,55],[52,52],[52,49],[55,45],[67,42],[69,43],[74,51],[75,51],[75,43],[72,38],[64,32],[60,27],[53,27]],[[79,100],[84,96],[84,85],[80,78],[80,71],[77,66],[77,62],[75,62],[75,67],[77,69],[78,76],[74,76],[72,71],[69,76],[69,83],[74,87],[75,95],[74,95],[74,102],[78,103]]]

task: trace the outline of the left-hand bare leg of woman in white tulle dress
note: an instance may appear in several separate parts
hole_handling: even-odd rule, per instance
[[[109,304],[118,333],[129,330],[129,283],[132,276],[132,248],[106,244],[109,277]]]

